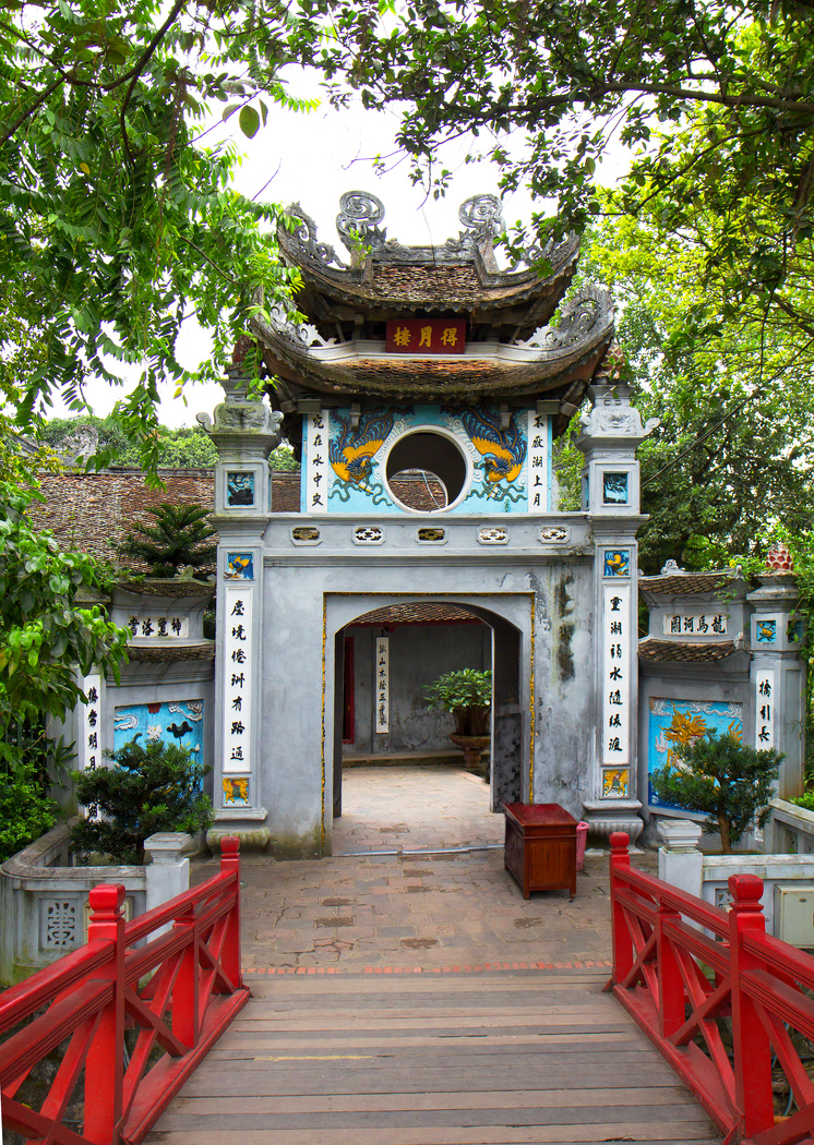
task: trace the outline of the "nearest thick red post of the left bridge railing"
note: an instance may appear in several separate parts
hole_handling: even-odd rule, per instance
[[[101,883],[89,895],[87,940],[112,943],[110,960],[94,978],[110,979],[112,997],[102,1011],[85,1060],[84,1136],[94,1145],[115,1145],[122,1128],[124,1082],[124,886]]]

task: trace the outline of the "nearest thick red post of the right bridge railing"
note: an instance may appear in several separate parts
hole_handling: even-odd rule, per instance
[[[741,976],[758,965],[743,948],[745,934],[762,934],[766,919],[760,905],[762,879],[754,875],[731,875],[729,893],[729,964],[731,969],[733,1050],[735,1099],[743,1116],[743,1136],[752,1137],[774,1126],[772,1100],[772,1047],[754,1003],[742,989]]]

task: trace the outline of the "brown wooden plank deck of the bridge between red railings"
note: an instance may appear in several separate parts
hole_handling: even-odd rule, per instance
[[[264,980],[146,1145],[717,1138],[604,974],[521,974]]]

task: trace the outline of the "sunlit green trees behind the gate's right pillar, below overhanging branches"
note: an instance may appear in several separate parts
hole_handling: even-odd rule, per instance
[[[720,219],[697,219],[713,236]],[[582,273],[606,281],[628,354],[635,403],[660,425],[639,450],[641,567],[756,555],[778,523],[814,519],[814,341],[752,300],[727,309],[727,278],[704,274],[695,232],[665,235],[658,219],[609,220],[585,240]],[[788,297],[807,306],[807,286]]]

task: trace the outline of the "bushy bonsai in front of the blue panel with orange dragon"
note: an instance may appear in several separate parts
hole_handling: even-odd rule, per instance
[[[653,791],[664,803],[704,812],[706,830],[719,831],[721,850],[731,854],[752,820],[762,827],[768,819],[773,782],[785,757],[714,732],[681,744],[676,755],[678,765],[652,773]]]

